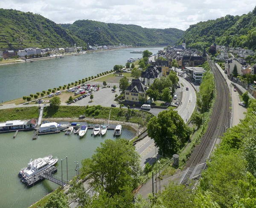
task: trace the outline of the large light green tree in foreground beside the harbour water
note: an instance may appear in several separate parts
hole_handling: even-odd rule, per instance
[[[91,159],[82,160],[82,176],[93,188],[103,188],[111,196],[136,187],[141,173],[140,155],[125,139],[107,139]]]

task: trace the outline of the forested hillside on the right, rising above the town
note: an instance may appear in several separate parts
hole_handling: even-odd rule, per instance
[[[256,7],[253,12],[242,16],[227,15],[216,20],[208,20],[191,25],[184,33],[186,45],[202,49],[213,43],[256,48]],[[182,39],[180,39],[181,43]]]

